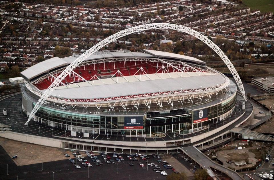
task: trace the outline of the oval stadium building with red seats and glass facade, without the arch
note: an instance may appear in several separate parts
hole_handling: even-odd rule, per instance
[[[21,73],[25,114],[78,56],[54,57]],[[33,120],[92,134],[189,134],[229,117],[236,92],[235,83],[193,57],[153,50],[97,51],[63,78]]]

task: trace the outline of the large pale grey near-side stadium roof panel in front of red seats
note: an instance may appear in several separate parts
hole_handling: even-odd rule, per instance
[[[114,78],[115,79],[115,78]],[[110,81],[113,81],[109,78]],[[221,74],[200,75],[191,77],[175,77],[122,83],[106,83],[82,87],[55,89],[51,95],[72,99],[89,99],[118,97],[125,95],[146,94],[154,92],[175,91],[182,89],[206,88],[225,83]],[[42,90],[41,92],[45,92]]]

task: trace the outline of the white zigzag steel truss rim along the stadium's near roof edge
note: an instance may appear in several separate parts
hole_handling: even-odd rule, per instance
[[[53,102],[53,104],[60,103],[62,106],[83,106],[84,108],[97,107],[98,109],[100,109],[101,107],[110,107],[112,110],[114,109],[115,105],[122,106],[124,109],[126,109],[127,105],[133,105],[136,109],[138,109],[140,104],[144,104],[148,108],[150,108],[151,104],[156,103],[157,105],[162,107],[163,102],[167,102],[168,104],[173,106],[174,101],[178,101],[178,103],[182,104],[186,100],[193,103],[194,98],[200,99],[202,101],[204,96],[210,98],[211,95],[214,93],[217,95],[219,91],[223,92],[223,89],[225,89],[229,84],[230,80],[225,77],[225,83],[207,88],[182,89],[176,91],[164,91],[96,99],[69,99],[63,97],[49,96],[47,100]],[[25,85],[26,88],[35,95],[39,97],[43,95],[43,93],[35,90],[28,82],[25,82]]]

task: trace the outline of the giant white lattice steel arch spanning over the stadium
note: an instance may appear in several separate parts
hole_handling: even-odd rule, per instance
[[[28,118],[27,122],[25,123],[25,125],[27,125],[28,122],[33,118],[33,116],[38,111],[38,109],[43,105],[43,103],[49,97],[50,93],[60,83],[62,83],[63,79],[65,79],[65,77],[67,75],[69,75],[89,55],[97,52],[98,50],[103,48],[108,43],[110,43],[114,40],[117,40],[117,39],[119,39],[123,36],[129,35],[129,34],[132,34],[132,33],[136,33],[136,32],[145,31],[145,30],[152,30],[152,29],[169,29],[169,30],[176,30],[176,31],[179,31],[179,32],[184,32],[184,33],[190,34],[190,35],[198,38],[199,40],[201,40],[202,42],[207,44],[212,50],[214,50],[220,56],[220,58],[223,60],[223,62],[225,62],[226,66],[231,71],[234,79],[236,80],[236,83],[239,87],[239,90],[241,91],[241,93],[243,95],[243,98],[245,99],[245,91],[244,91],[244,88],[243,88],[243,84],[242,84],[241,79],[240,79],[236,69],[234,68],[233,64],[227,58],[225,53],[216,44],[214,44],[211,40],[209,40],[206,36],[202,35],[201,33],[197,32],[197,31],[195,31],[191,28],[188,28],[188,27],[185,27],[185,26],[182,26],[182,25],[177,25],[177,24],[169,24],[169,23],[143,24],[143,25],[139,25],[139,26],[135,26],[135,27],[132,27],[132,28],[122,30],[120,32],[117,32],[116,34],[113,34],[113,35],[105,38],[104,40],[100,41],[99,43],[95,44],[92,48],[90,48],[89,50],[84,52],[76,60],[74,60],[74,62],[72,62],[69,66],[67,66],[67,68],[64,71],[62,71],[62,73],[53,81],[53,83],[48,87],[48,89],[45,91],[43,96],[40,97],[40,99],[36,103],[35,107],[31,111],[31,114],[29,115],[29,118]]]

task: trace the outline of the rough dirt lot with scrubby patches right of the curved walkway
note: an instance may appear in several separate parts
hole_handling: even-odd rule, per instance
[[[229,167],[231,169],[245,169],[248,167],[253,167],[258,159],[261,159],[261,154],[266,148],[271,147],[271,143],[263,143],[263,142],[245,142],[236,140],[226,146],[213,149],[209,152],[205,152],[206,155],[211,152],[215,152],[217,159],[222,161],[225,167]],[[242,149],[238,149],[241,146]],[[227,161],[231,161],[231,164],[227,163]],[[235,166],[235,162],[238,161],[246,161],[247,165]]]

